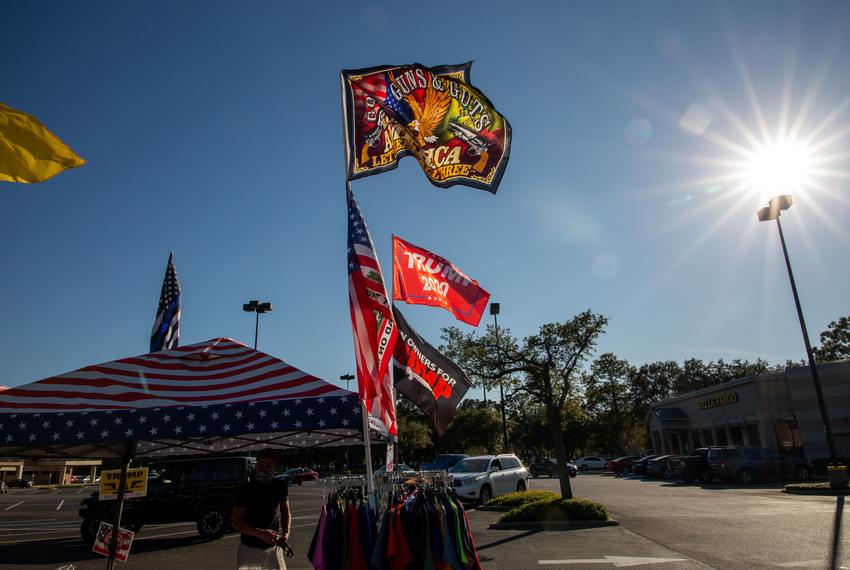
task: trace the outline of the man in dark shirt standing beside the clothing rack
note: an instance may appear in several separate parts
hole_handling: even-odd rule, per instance
[[[257,454],[254,477],[242,485],[233,506],[233,528],[242,533],[238,570],[285,570],[284,550],[292,515],[286,481],[274,478],[275,452]]]

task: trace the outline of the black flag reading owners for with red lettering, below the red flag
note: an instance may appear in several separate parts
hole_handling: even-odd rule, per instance
[[[393,353],[396,390],[410,398],[445,433],[455,410],[469,390],[466,373],[446,355],[422,339],[393,306],[398,342]]]

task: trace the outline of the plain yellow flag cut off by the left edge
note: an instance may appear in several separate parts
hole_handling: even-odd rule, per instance
[[[44,182],[85,163],[38,119],[0,103],[0,180]]]

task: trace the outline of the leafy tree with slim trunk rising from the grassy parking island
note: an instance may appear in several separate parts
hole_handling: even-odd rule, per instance
[[[574,395],[582,365],[592,354],[607,323],[606,317],[584,311],[567,322],[542,325],[537,334],[525,337],[521,345],[510,331],[503,329],[498,348],[491,327],[481,338],[472,333],[464,335],[454,327],[443,330],[446,352],[468,374],[484,379],[517,374],[515,391],[525,393],[543,406],[558,462],[561,495],[565,498],[572,498],[573,494],[567,474],[563,410],[567,398]]]

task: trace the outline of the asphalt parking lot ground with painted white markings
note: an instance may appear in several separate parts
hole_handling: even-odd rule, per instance
[[[779,485],[684,485],[596,473],[572,479],[576,495],[602,501],[621,526],[537,532],[488,529],[498,513],[469,513],[485,568],[825,568],[836,499],[785,495]],[[557,490],[556,479],[532,489]],[[103,568],[79,538],[77,507],[91,488],[14,489],[0,496],[0,567]],[[321,482],[291,489],[290,569],[305,558],[322,500]],[[850,542],[846,529],[843,542]],[[130,568],[234,567],[238,535],[202,540],[193,523],[149,526],[137,535]]]

